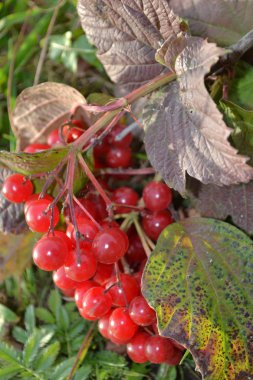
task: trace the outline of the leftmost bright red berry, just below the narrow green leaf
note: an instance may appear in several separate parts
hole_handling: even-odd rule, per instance
[[[12,174],[5,179],[2,193],[9,202],[26,202],[33,193],[33,184],[22,174]]]

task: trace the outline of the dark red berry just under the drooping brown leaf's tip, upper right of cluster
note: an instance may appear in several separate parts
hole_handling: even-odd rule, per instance
[[[148,183],[142,193],[145,206],[150,211],[161,211],[168,208],[172,201],[171,189],[162,182]]]

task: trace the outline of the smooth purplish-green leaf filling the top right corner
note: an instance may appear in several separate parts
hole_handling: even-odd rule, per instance
[[[234,44],[253,25],[252,0],[170,0],[170,7],[187,19],[193,35],[221,46]]]

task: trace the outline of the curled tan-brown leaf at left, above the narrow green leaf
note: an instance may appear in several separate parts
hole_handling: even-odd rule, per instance
[[[17,149],[23,150],[34,141],[46,142],[47,135],[70,116],[85,98],[73,87],[46,82],[25,89],[17,98],[13,112],[13,129]]]

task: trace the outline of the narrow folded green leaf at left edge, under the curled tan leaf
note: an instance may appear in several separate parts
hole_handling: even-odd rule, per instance
[[[0,151],[0,164],[22,174],[46,173],[53,170],[68,154],[69,148],[54,148],[38,153]]]

